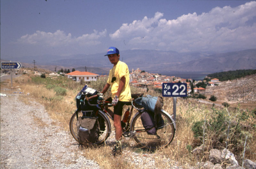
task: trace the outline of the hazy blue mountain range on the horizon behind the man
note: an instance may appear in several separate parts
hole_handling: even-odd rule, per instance
[[[79,54],[70,56],[44,55],[41,57],[26,56],[21,58],[1,59],[32,63],[36,65],[56,65],[67,68],[91,67],[102,74],[112,67],[105,53]],[[148,72],[221,72],[237,69],[256,69],[256,49],[248,49],[229,53],[188,52],[156,50],[125,50],[120,52],[120,60],[123,60],[130,71],[140,68]],[[78,69],[77,69],[78,70]]]

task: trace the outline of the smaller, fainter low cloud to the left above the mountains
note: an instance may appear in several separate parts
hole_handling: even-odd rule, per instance
[[[44,46],[69,46],[69,45],[97,45],[100,44],[100,38],[105,37],[107,30],[102,32],[93,30],[91,34],[83,34],[79,37],[71,36],[71,33],[65,34],[63,31],[57,30],[54,33],[36,31],[35,33],[29,35],[24,35],[17,40],[19,43],[34,44],[34,45],[44,45]]]

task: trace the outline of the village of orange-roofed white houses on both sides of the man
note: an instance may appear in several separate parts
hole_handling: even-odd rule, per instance
[[[68,78],[72,78],[75,81],[97,81],[98,78],[106,78],[108,75],[99,75],[94,74],[91,72],[80,72],[80,71],[74,71],[68,74],[65,74]],[[137,68],[136,70],[132,69],[132,72],[130,73],[130,85],[141,88],[141,89],[162,89],[163,83],[187,83],[187,94],[189,95],[192,92],[190,81],[193,82],[193,88],[194,93],[205,93],[205,88],[196,87],[197,83],[204,82],[207,84],[207,86],[214,87],[220,84],[219,79],[213,78],[211,81],[193,81],[193,79],[182,79],[180,77],[175,76],[166,76],[161,75],[158,73],[148,73],[145,71],[140,70],[140,68]]]

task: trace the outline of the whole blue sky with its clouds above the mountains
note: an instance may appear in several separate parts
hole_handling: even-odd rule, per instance
[[[1,58],[255,48],[256,1],[1,0]]]

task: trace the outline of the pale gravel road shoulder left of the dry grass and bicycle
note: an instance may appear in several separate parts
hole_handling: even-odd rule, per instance
[[[84,158],[67,131],[53,125],[41,104],[20,99],[1,97],[0,168],[100,168]]]

